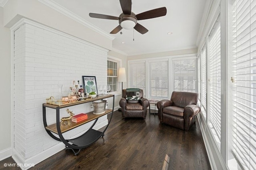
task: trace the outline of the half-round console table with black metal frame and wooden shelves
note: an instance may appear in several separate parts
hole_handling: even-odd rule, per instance
[[[96,100],[101,100],[101,99],[105,99],[105,98],[112,98],[113,99],[113,106],[112,109],[106,109],[105,113],[96,115],[93,114],[93,111],[87,113],[88,114],[88,119],[79,122],[79,123],[74,123],[70,120],[70,125],[65,125],[65,126],[61,126],[60,125],[60,109],[65,108],[65,107],[71,107],[71,106],[76,106],[76,105],[80,105],[80,104],[85,104],[88,102],[93,102]],[[43,122],[44,122],[44,127],[46,129],[46,132],[50,135],[50,137],[52,137],[53,139],[57,140],[57,141],[62,141],[65,145],[66,145],[66,149],[71,149],[75,155],[77,155],[81,149],[86,148],[90,145],[92,145],[92,143],[96,142],[100,137],[104,136],[104,133],[106,131],[106,129],[108,128],[108,125],[112,119],[113,116],[113,111],[114,111],[114,95],[107,95],[107,96],[96,96],[96,98],[92,98],[92,100],[86,100],[83,102],[79,102],[79,103],[71,103],[71,104],[66,104],[63,106],[56,106],[56,105],[52,105],[52,104],[43,104]],[[55,109],[56,110],[56,123],[52,124],[52,125],[47,125],[47,121],[46,121],[46,107],[51,108],[51,109]],[[94,125],[96,124],[96,122],[98,121],[99,117],[102,117],[104,115],[107,114],[111,114],[110,119],[108,120],[108,124],[106,125],[105,129],[103,131],[96,131],[94,129],[92,129],[94,127]],[[94,121],[93,125],[88,129],[88,131],[86,131],[84,134],[80,135],[79,137],[76,137],[74,139],[64,139],[62,133],[65,133],[67,131],[70,131],[78,126],[84,125],[85,123],[88,123],[90,121]],[[56,137],[53,133],[57,134],[58,137]]]

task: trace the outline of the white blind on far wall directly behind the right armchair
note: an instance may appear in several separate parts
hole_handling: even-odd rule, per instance
[[[173,58],[174,91],[197,92],[197,57]]]

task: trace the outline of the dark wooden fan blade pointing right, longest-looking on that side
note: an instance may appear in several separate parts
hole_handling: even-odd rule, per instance
[[[136,18],[137,18],[137,20],[146,20],[146,19],[150,19],[150,18],[165,16],[166,12],[167,12],[167,10],[165,7],[156,8],[154,10],[142,12],[142,13],[136,15]]]

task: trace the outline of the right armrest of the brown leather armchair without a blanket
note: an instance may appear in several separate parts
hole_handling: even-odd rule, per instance
[[[192,119],[197,113],[199,113],[200,107],[196,104],[190,104],[184,108],[184,129],[188,130],[190,123],[190,119]]]

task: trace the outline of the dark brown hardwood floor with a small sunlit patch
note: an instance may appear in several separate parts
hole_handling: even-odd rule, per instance
[[[12,158],[0,161],[15,163]],[[7,168],[6,168],[7,169]],[[12,167],[10,169],[19,169]],[[158,115],[122,119],[114,111],[103,138],[74,156],[62,150],[31,170],[210,170],[198,122],[189,131],[160,124]]]

